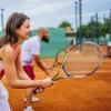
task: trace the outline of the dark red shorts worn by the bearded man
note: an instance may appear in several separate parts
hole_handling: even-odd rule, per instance
[[[23,70],[30,77],[31,80],[34,80],[33,67],[31,67],[31,65],[23,65]]]

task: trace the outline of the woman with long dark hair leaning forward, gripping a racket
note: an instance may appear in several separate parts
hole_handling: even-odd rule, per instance
[[[0,111],[11,111],[8,92],[2,84],[6,78],[12,88],[48,88],[53,84],[50,78],[32,81],[23,71],[21,63],[21,41],[29,38],[30,19],[23,14],[12,13],[6,24],[6,33],[0,39]]]

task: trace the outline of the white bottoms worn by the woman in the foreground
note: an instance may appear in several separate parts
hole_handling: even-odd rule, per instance
[[[11,111],[8,98],[9,98],[8,91],[0,81],[0,111]]]

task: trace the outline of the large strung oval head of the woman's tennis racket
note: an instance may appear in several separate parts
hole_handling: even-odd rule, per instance
[[[92,41],[87,41],[71,48],[65,57],[64,78],[84,78],[99,69],[103,61],[102,49]]]

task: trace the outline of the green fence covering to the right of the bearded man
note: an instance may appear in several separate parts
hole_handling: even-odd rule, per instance
[[[49,36],[49,43],[41,43],[41,58],[54,58],[59,50],[67,48],[65,28],[51,28]]]

